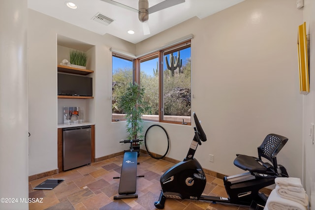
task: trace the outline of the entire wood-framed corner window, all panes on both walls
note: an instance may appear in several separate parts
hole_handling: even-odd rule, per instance
[[[144,120],[190,124],[190,48],[188,40],[135,60],[113,53],[112,120],[124,119],[116,98],[134,81],[145,88],[145,101],[151,107]]]

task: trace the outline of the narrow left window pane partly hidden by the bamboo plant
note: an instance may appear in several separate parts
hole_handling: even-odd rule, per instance
[[[126,87],[134,78],[134,60],[118,54],[112,55],[112,120],[125,118],[123,110],[117,105],[117,98],[124,94]]]

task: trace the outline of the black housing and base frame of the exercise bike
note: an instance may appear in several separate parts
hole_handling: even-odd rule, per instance
[[[279,165],[280,170],[283,170],[284,174],[286,174],[286,170],[282,165]],[[180,183],[176,182],[176,180],[184,180],[181,176],[181,172],[183,169],[189,169],[190,175],[187,175],[187,179],[194,180],[195,186],[182,186],[182,192],[172,191],[174,190],[174,184],[179,186]],[[275,177],[265,177],[264,175],[252,175],[250,172],[246,172],[243,174],[238,174],[230,177],[224,177],[223,183],[228,194],[228,198],[225,197],[216,197],[216,196],[206,196],[201,195],[199,189],[204,189],[206,184],[206,179],[198,180],[194,176],[194,174],[202,174],[202,176],[206,176],[202,171],[201,165],[196,159],[185,160],[180,163],[177,163],[172,168],[167,170],[164,175],[161,177],[162,183],[162,191],[159,196],[159,200],[155,202],[155,206],[158,209],[163,209],[163,203],[166,198],[172,199],[191,199],[191,200],[204,200],[218,203],[228,203],[234,205],[242,205],[242,206],[251,206],[252,201],[256,202],[259,205],[264,206],[267,197],[260,193],[259,190],[263,187],[272,185],[275,183]],[[193,178],[194,177],[194,178]],[[280,177],[280,176],[279,176]],[[199,182],[197,182],[199,181]],[[174,183],[172,183],[174,182]],[[183,184],[185,185],[185,184]],[[191,187],[191,189],[189,189]]]

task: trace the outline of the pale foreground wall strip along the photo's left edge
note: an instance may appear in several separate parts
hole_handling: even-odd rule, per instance
[[[0,1],[1,210],[29,207],[27,12],[27,0]]]

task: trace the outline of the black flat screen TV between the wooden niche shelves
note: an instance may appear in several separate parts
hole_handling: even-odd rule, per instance
[[[58,95],[93,96],[93,79],[58,73]]]

